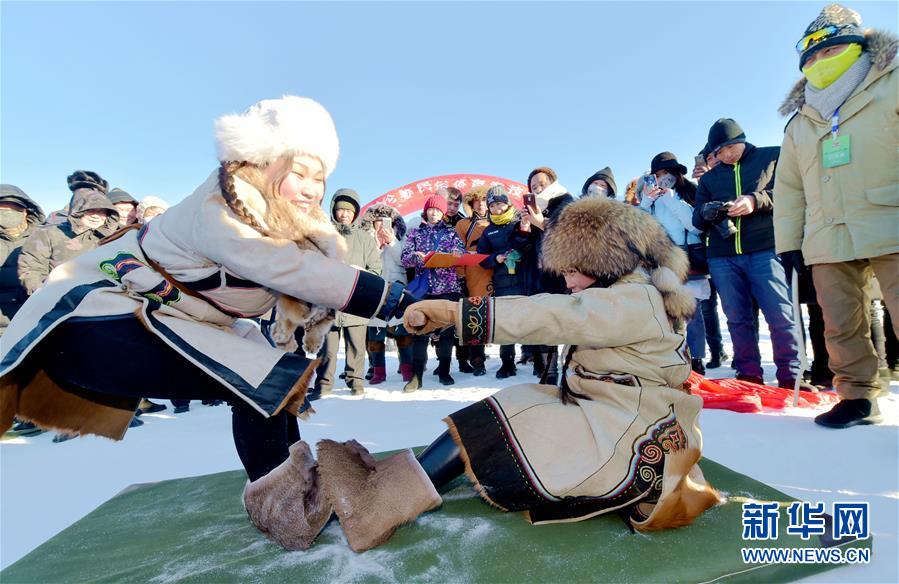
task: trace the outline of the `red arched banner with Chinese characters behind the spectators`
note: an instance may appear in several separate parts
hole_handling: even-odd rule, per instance
[[[506,187],[511,203],[517,207],[524,206],[521,197],[527,192],[527,187],[522,183],[484,174],[445,174],[415,181],[398,189],[388,191],[362,207],[362,213],[365,213],[365,210],[374,204],[386,203],[405,217],[421,211],[425,205],[425,199],[436,193],[440,188],[456,187],[462,191],[462,194],[465,194],[474,187],[490,187],[493,185]]]

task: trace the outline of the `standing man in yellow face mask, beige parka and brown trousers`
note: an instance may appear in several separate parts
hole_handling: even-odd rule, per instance
[[[803,78],[780,108],[793,117],[774,185],[775,243],[788,273],[811,269],[841,398],[815,422],[831,428],[881,421],[864,291],[872,274],[899,322],[896,47],[891,33],[863,31],[858,13],[827,6],[796,45]]]

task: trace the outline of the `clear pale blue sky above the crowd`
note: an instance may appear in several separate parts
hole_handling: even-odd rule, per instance
[[[439,174],[623,191],[722,116],[779,144],[794,44],[825,2],[0,3],[0,179],[45,210],[90,169],[177,202],[216,166],[212,122],[306,95],[334,116],[328,195]],[[896,31],[897,3],[847,2]]]

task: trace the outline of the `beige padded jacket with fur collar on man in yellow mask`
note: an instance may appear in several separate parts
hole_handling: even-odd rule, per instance
[[[807,264],[899,253],[897,39],[883,31],[865,38],[871,70],[840,108],[839,133],[852,137],[848,164],[824,168],[831,123],[805,103],[805,78],[780,109],[797,113],[786,127],[774,185],[776,247],[801,249]]]

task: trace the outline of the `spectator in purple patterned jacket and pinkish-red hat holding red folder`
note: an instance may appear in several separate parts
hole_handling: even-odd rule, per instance
[[[412,230],[403,244],[403,266],[415,269],[416,280],[426,280],[425,298],[459,300],[462,298],[462,286],[455,268],[431,269],[424,267],[424,258],[432,251],[456,255],[461,255],[465,251],[465,244],[459,239],[455,229],[443,221],[444,215],[446,215],[446,199],[439,195],[428,197],[422,210],[421,225]],[[410,283],[409,286],[412,287],[413,284]],[[437,346],[439,362],[437,375],[443,385],[455,383],[449,374],[454,344],[455,330],[453,328],[440,333],[440,341]],[[428,337],[417,336],[412,352],[412,379],[406,384],[403,391],[411,392],[421,387],[427,361]]]

